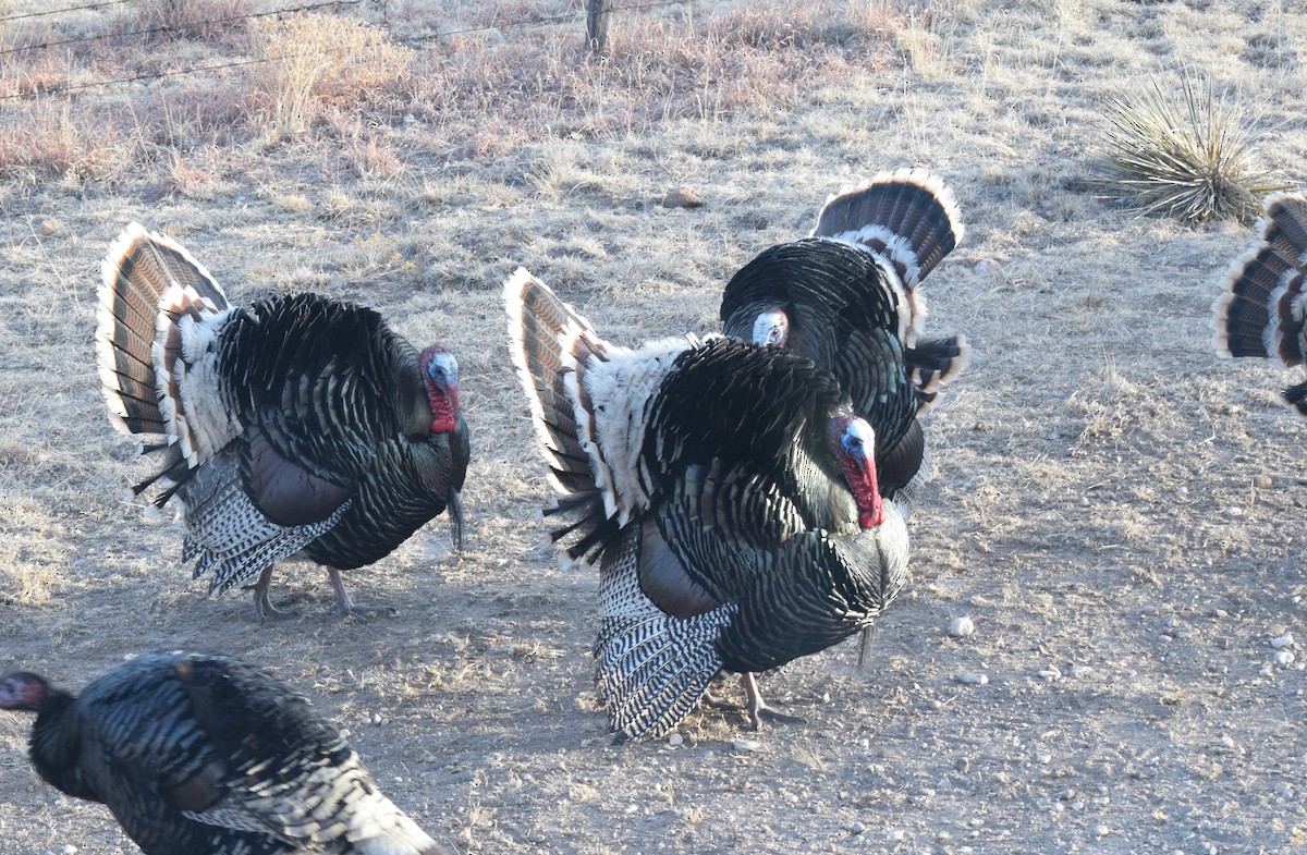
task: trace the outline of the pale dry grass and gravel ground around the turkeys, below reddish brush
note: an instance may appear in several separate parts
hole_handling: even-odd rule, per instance
[[[959,4],[944,71],[868,71],[786,111],[416,159],[403,180],[303,163],[162,199],[4,186],[0,672],[78,688],[174,647],[268,665],[460,852],[1304,851],[1307,425],[1277,403],[1289,371],[1212,348],[1252,231],[1132,217],[1086,191],[1081,157],[1095,99],[1192,64],[1261,110],[1261,158],[1302,179],[1304,34],[1307,12],[1278,3]],[[829,192],[904,165],[958,196],[967,233],[924,285],[927,329],[974,348],[929,417],[910,590],[863,671],[848,642],[765,679],[805,724],[754,733],[707,709],[674,744],[613,745],[596,579],[557,567],[536,516],[549,490],[503,278],[527,265],[622,344],[711,331],[736,268],[806,234]],[[706,205],[663,208],[680,184]],[[323,216],[341,192],[346,216]],[[124,498],[150,467],[105,417],[91,337],[99,259],[131,220],[237,299],[367,301],[457,354],[465,552],[438,519],[346,575],[399,616],[342,622],[325,574],[288,565],[273,599],[305,616],[260,628],[246,596],[191,580],[169,511]],[[948,634],[958,617],[972,635]],[[0,848],[136,851],[37,778],[29,727],[0,714]]]

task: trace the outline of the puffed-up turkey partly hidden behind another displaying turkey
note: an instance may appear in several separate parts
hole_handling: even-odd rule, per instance
[[[962,231],[940,178],[881,173],[827,199],[812,237],[763,250],[721,295],[728,336],[789,348],[839,379],[876,430],[881,492],[906,507],[928,469],[919,416],[967,360],[962,336],[918,341],[918,285]]]

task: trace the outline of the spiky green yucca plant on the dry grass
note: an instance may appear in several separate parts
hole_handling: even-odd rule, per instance
[[[1251,222],[1261,199],[1289,186],[1252,162],[1261,136],[1234,102],[1218,98],[1210,78],[1185,73],[1180,95],[1155,77],[1133,93],[1108,97],[1100,139],[1091,149],[1097,184],[1140,213],[1166,213],[1192,225]]]

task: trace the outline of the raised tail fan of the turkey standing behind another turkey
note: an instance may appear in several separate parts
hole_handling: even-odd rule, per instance
[[[944,179],[923,169],[881,173],[826,200],[813,237],[860,243],[890,260],[911,293],[962,241],[962,216]]]

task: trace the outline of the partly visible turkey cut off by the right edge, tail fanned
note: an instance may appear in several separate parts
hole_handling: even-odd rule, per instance
[[[1217,352],[1230,357],[1307,365],[1307,193],[1273,193],[1257,221],[1257,241],[1230,265],[1213,306]],[[1307,416],[1307,382],[1285,390]]]

